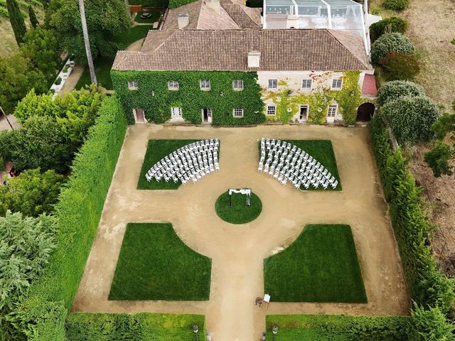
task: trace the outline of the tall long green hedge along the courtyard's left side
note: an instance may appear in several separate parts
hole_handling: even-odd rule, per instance
[[[30,340],[65,340],[66,313],[82,278],[127,129],[117,97],[107,97],[99,114],[55,207],[57,248],[45,274],[10,316]]]

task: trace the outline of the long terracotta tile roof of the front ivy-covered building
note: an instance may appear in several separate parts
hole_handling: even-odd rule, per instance
[[[360,36],[316,30],[151,31],[141,52],[119,51],[114,70],[371,70]],[[346,37],[344,37],[346,35]],[[247,55],[261,52],[259,67]]]

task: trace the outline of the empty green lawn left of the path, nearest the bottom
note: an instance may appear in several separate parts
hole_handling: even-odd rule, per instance
[[[205,301],[212,261],[178,238],[168,223],[129,223],[109,300]]]

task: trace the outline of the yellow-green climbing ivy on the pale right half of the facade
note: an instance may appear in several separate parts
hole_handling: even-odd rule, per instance
[[[312,124],[323,124],[326,121],[328,106],[331,102],[338,103],[338,110],[343,117],[345,124],[355,124],[357,108],[362,102],[360,96],[360,86],[358,80],[360,71],[346,71],[343,73],[342,90],[331,90],[328,87],[319,86],[316,90],[308,94],[298,93],[292,95],[286,81],[281,80],[279,85],[284,86],[284,90],[272,92],[263,91],[264,100],[272,99],[277,104],[277,115],[267,117],[269,120],[279,120],[289,123],[294,115],[299,112],[300,104],[309,105],[309,117],[307,121]]]

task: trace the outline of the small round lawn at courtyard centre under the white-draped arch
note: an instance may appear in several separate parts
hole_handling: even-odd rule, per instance
[[[255,220],[262,211],[262,202],[255,193],[251,193],[250,207],[247,207],[247,195],[232,193],[232,206],[229,207],[228,191],[215,202],[218,217],[232,224],[245,224]]]

